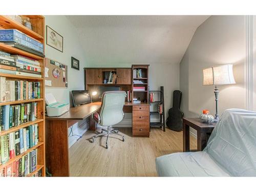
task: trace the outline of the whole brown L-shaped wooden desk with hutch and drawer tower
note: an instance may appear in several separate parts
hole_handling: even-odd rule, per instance
[[[141,69],[142,78],[132,78],[134,69]],[[104,72],[114,71],[117,74],[116,83],[103,84]],[[140,104],[127,102],[123,107],[125,113],[133,113],[132,132],[134,137],[150,136],[150,104],[148,101],[148,65],[133,65],[132,68],[86,68],[85,83],[86,90],[97,91],[99,86],[118,86],[120,90],[132,90],[132,98],[140,97]],[[145,91],[135,92],[133,90],[133,79],[141,79],[143,84],[136,84],[138,87],[145,87]],[[100,109],[100,99],[96,102],[84,104],[76,108],[70,108],[69,112],[59,117],[46,116],[46,164],[52,176],[69,176],[69,146],[68,128],[86,118],[90,118],[89,129],[96,130],[96,123],[91,115]],[[132,99],[133,100],[133,99]]]

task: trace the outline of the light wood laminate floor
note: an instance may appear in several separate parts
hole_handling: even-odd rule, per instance
[[[157,176],[156,157],[182,152],[182,132],[154,128],[150,138],[132,137],[131,128],[120,128],[119,133],[125,141],[112,134],[106,149],[106,137],[91,143],[89,139],[95,132],[87,131],[70,147],[70,176]],[[190,146],[197,147],[192,136]]]

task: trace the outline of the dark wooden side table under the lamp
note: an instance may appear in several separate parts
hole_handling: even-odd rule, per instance
[[[197,150],[203,151],[216,123],[203,123],[199,118],[183,118],[183,152],[190,152],[189,127],[197,130]]]

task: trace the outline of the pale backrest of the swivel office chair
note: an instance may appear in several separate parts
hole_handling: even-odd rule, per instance
[[[125,96],[124,91],[107,91],[102,94],[99,113],[101,126],[111,126],[123,119]]]

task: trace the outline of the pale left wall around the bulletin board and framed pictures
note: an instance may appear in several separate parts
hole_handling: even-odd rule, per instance
[[[84,90],[83,68],[86,66],[86,57],[77,38],[76,31],[66,16],[45,16],[45,24],[63,36],[63,53],[46,45],[46,57],[68,65],[68,88],[46,88],[46,93],[53,93],[57,101],[70,102],[70,91]],[[71,56],[80,61],[80,70],[71,68]],[[70,102],[72,104],[72,102]],[[79,122],[73,126],[74,134],[82,135],[87,129],[87,123]],[[70,132],[70,130],[69,130]],[[76,136],[70,138],[70,146],[76,141]]]

